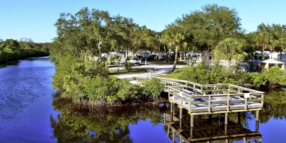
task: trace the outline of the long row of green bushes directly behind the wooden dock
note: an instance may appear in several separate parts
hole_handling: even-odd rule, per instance
[[[286,84],[284,83],[286,81],[285,76],[283,76],[285,75],[285,71],[277,69],[277,67],[262,74],[257,72],[245,73],[235,69],[226,70],[223,66],[211,66],[200,63],[196,66],[185,66],[176,69],[172,74],[176,75],[180,80],[188,80],[199,84],[230,83],[246,88],[258,88],[265,85],[267,81],[274,84]]]

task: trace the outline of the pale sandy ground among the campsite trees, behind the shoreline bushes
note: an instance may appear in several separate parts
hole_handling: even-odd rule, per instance
[[[186,65],[177,65],[176,68],[180,68]],[[158,64],[158,63],[147,63],[147,65],[145,66],[145,64],[141,64],[141,66],[136,67],[136,68],[141,68],[141,69],[146,69],[146,70],[156,70],[156,73],[160,73],[160,75],[164,75],[165,72],[170,72],[173,69],[173,65],[165,65],[165,64]],[[124,68],[124,66],[122,67],[114,67],[114,68],[109,68],[109,70],[127,70]],[[133,80],[132,77],[147,77],[146,73],[138,73],[138,74],[125,74],[125,75],[118,75],[116,76],[116,78],[121,79],[121,80],[126,80],[128,79],[130,81],[130,83],[136,84],[137,81]]]

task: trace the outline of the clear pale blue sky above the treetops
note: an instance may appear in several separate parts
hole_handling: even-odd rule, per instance
[[[3,40],[31,38],[34,42],[52,42],[56,37],[53,26],[60,13],[77,13],[81,8],[107,10],[133,18],[139,26],[161,32],[166,24],[181,18],[183,13],[201,10],[205,4],[235,8],[242,19],[242,28],[256,31],[265,24],[286,24],[285,0],[0,0],[0,38]]]

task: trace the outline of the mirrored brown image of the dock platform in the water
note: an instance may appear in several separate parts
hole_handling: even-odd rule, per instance
[[[242,124],[228,121],[226,132],[224,126],[224,120],[219,118],[195,119],[194,127],[183,124],[182,128],[180,128],[180,121],[173,121],[168,124],[167,136],[175,143],[228,143],[234,141],[261,143],[261,133],[244,128]],[[191,131],[193,133],[190,133]]]

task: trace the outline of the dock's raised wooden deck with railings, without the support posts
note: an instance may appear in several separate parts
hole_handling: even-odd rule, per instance
[[[137,77],[137,81],[139,78]],[[169,101],[191,115],[258,111],[262,109],[264,92],[231,84],[200,85],[186,80],[160,78]],[[150,77],[142,78],[151,80]],[[143,80],[143,81],[144,81]]]

